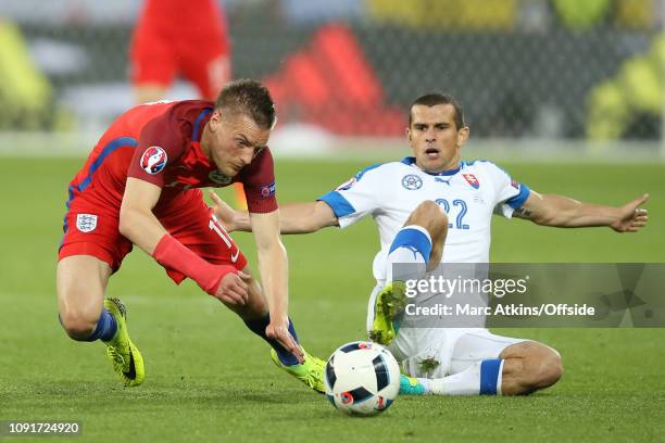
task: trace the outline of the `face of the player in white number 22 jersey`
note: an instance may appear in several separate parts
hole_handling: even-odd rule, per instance
[[[460,149],[468,139],[468,127],[457,129],[452,104],[416,104],[411,109],[406,136],[416,165],[425,172],[439,174],[459,166]]]

